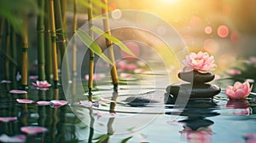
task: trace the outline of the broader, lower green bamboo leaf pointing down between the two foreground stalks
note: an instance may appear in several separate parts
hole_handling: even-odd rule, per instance
[[[93,39],[91,39],[91,37],[86,32],[79,29],[77,31],[77,34],[85,46],[87,46],[92,52],[100,56],[102,60],[105,60],[109,64],[113,65],[113,62],[109,60],[105,54],[102,53],[102,49],[100,48],[100,46]]]

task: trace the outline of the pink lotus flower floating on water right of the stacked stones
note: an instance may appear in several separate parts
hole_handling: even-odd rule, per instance
[[[225,93],[230,99],[245,99],[253,89],[253,85],[250,87],[250,83],[236,82],[234,86],[227,86]]]

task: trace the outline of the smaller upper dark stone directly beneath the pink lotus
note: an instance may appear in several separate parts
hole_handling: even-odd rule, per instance
[[[201,73],[197,71],[192,71],[179,72],[177,74],[177,77],[189,83],[207,83],[211,82],[214,79],[215,75],[212,72]]]

